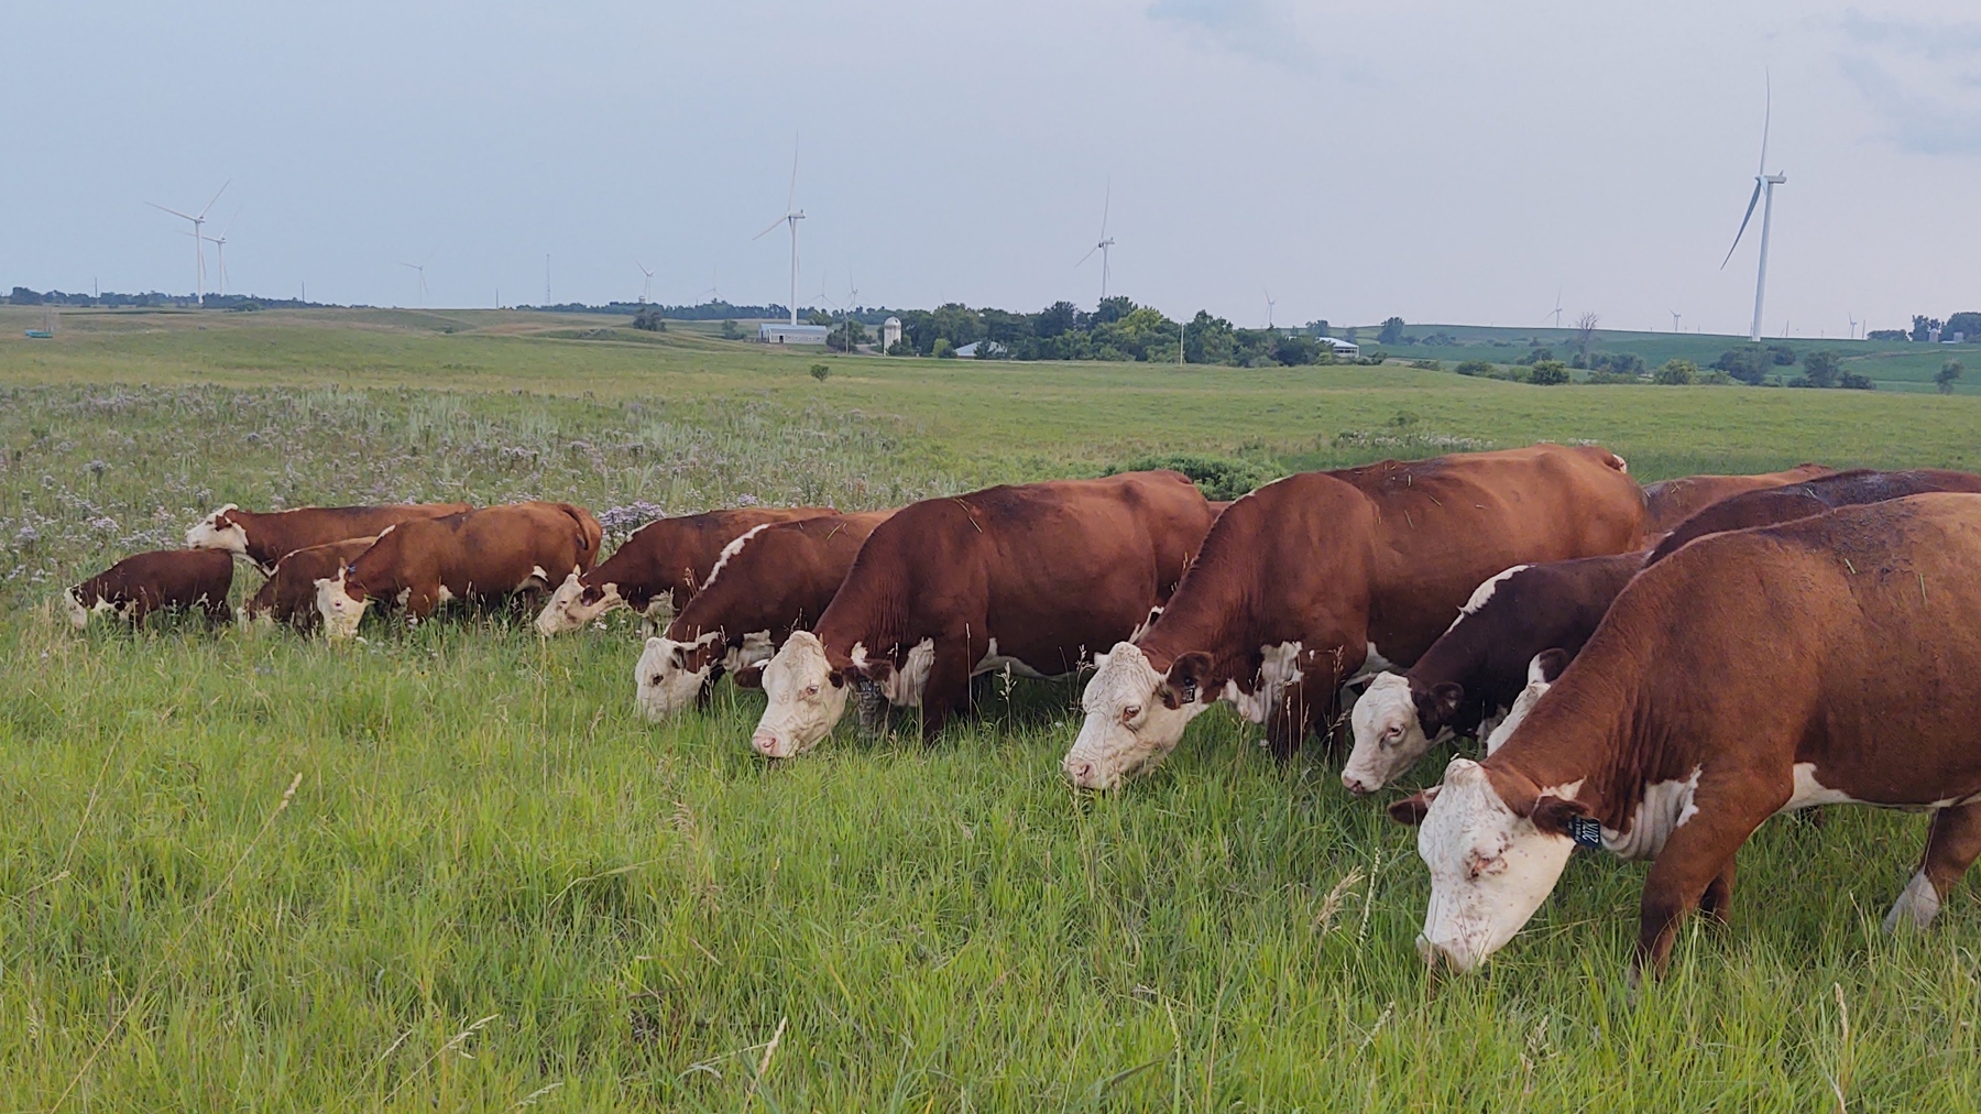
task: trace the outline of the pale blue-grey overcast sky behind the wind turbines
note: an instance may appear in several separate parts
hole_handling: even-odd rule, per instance
[[[0,285],[1745,331],[1981,309],[1971,0],[16,4]],[[236,218],[238,214],[238,218]],[[212,266],[212,260],[208,260]],[[212,279],[210,279],[212,285]]]

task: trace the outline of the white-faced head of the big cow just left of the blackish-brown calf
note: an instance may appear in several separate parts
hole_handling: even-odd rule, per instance
[[[1191,720],[1210,708],[1212,694],[1204,692],[1210,662],[1204,654],[1185,654],[1165,676],[1141,646],[1115,642],[1094,656],[1094,666],[1080,696],[1086,720],[1060,769],[1082,789],[1115,789],[1163,761]]]

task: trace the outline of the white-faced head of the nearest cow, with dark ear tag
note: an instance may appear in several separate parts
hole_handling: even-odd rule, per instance
[[[1575,842],[1569,821],[1587,817],[1573,799],[1535,789],[1519,775],[1496,779],[1456,757],[1434,785],[1389,807],[1391,819],[1418,825],[1416,852],[1430,866],[1430,908],[1416,953],[1470,971],[1506,946],[1555,888]]]

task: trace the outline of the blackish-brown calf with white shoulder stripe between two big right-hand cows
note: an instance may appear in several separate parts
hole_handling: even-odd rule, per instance
[[[1492,731],[1527,688],[1543,650],[1573,658],[1616,593],[1644,567],[1642,553],[1513,565],[1486,581],[1452,628],[1403,674],[1377,674],[1355,702],[1355,751],[1341,767],[1351,793],[1375,793],[1424,757],[1444,731]]]

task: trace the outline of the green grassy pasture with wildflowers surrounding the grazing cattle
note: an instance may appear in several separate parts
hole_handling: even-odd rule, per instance
[[[1765,825],[1731,926],[1688,922],[1636,993],[1644,866],[1591,854],[1484,973],[1428,975],[1414,835],[1341,753],[1280,765],[1226,712],[1090,797],[1058,771],[1072,682],[771,767],[759,694],[634,714],[624,613],[327,646],[50,607],[222,501],[573,500],[616,539],[1171,452],[1971,470],[1971,392],[979,365],[501,311],[32,325],[0,309],[0,1112],[1981,1106],[1975,884],[1880,932],[1920,815]]]

